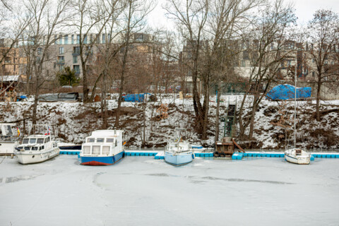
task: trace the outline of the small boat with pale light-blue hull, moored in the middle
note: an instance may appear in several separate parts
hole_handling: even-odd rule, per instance
[[[191,145],[186,141],[168,142],[165,148],[165,162],[181,166],[194,160],[194,151]]]

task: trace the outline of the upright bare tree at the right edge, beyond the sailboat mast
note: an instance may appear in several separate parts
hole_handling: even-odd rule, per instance
[[[339,17],[331,10],[319,10],[307,26],[307,65],[315,72],[316,120],[320,121],[320,96],[324,83],[333,83],[339,78],[337,49],[339,44]]]

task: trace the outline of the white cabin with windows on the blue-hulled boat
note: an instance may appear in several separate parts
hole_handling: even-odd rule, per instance
[[[114,155],[122,150],[123,131],[93,131],[83,143],[83,155]]]

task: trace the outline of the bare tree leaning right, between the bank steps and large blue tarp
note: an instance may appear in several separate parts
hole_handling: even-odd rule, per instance
[[[280,73],[281,62],[295,53],[295,47],[290,47],[286,35],[295,19],[292,6],[285,5],[283,0],[276,0],[273,5],[268,4],[263,8],[252,25],[250,35],[244,38],[242,55],[243,59],[248,59],[250,66],[246,93],[239,108],[241,138],[244,138],[249,126],[248,138],[252,139],[258,106],[266,96],[270,83]],[[253,95],[251,109],[245,114],[244,104],[249,95]]]

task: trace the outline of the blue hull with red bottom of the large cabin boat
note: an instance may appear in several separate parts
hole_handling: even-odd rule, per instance
[[[80,156],[81,165],[113,165],[125,155],[124,151],[111,156]]]

